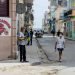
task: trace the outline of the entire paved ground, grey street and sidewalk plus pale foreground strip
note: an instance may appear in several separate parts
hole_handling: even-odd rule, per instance
[[[32,46],[26,46],[28,63],[17,60],[0,61],[1,75],[63,75],[75,74],[74,41],[66,40],[63,61],[57,62],[58,51],[54,50],[55,37],[44,35],[33,39]],[[9,64],[10,63],[10,64]]]

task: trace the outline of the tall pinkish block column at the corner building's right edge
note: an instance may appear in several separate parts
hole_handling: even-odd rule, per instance
[[[9,0],[9,15],[11,18],[11,58],[16,58],[16,0]]]

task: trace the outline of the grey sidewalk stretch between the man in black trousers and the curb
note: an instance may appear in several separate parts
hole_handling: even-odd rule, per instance
[[[39,49],[35,39],[33,39],[33,45],[27,46],[26,49],[27,49],[27,59],[29,63],[40,62],[38,55]]]

